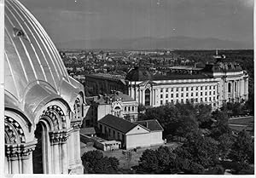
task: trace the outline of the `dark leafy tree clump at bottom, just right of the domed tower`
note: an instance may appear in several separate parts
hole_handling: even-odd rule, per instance
[[[119,166],[117,158],[103,157],[103,153],[98,150],[84,152],[81,159],[85,173],[89,174],[116,173]]]

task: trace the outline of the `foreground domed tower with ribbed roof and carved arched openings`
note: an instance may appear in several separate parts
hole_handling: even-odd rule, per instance
[[[4,6],[5,173],[81,174],[84,87],[38,20],[19,1]]]

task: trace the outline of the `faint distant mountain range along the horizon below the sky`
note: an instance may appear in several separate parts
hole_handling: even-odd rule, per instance
[[[253,49],[253,42],[237,42],[212,37],[138,37],[81,39],[56,43],[56,46],[59,49]]]

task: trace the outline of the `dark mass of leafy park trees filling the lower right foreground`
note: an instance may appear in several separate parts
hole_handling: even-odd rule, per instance
[[[253,174],[253,138],[245,130],[234,133],[228,123],[230,113],[241,114],[246,104],[227,103],[216,111],[193,103],[141,107],[140,120],[157,119],[164,128],[163,138],[180,144],[175,149],[146,149],[128,173],[223,175],[229,170],[234,175]],[[84,152],[82,162],[84,173],[127,173],[119,168],[119,159],[104,157],[100,151]]]

